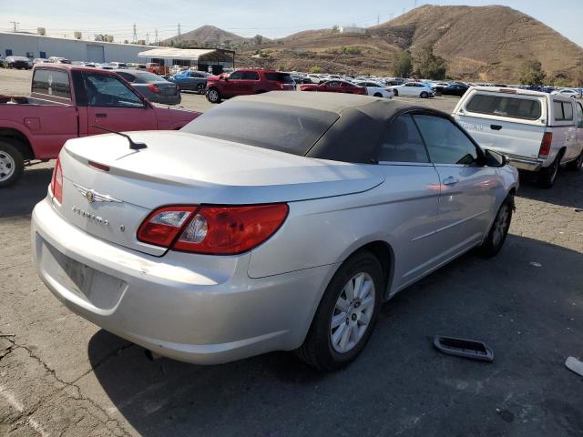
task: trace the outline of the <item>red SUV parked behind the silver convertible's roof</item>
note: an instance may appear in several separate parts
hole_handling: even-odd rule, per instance
[[[290,74],[275,70],[237,70],[230,75],[207,78],[207,99],[210,103],[220,103],[223,98],[295,89],[295,81]]]

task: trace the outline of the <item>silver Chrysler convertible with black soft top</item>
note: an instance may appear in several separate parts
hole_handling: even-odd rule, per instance
[[[346,365],[385,300],[501,249],[518,187],[451,117],[383,98],[238,97],[129,137],[66,143],[33,213],[36,266],[70,310],[200,364]]]

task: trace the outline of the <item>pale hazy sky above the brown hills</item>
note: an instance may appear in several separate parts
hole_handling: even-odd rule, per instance
[[[534,16],[583,46],[583,0],[318,0],[299,3],[274,0],[0,0],[0,30],[12,29],[10,22],[16,21],[19,30],[34,32],[36,27],[46,27],[48,36],[72,36],[74,31],[80,31],[84,38],[103,33],[115,36],[118,41],[132,39],[136,24],[138,39],[154,41],[156,30],[160,39],[175,36],[180,23],[183,33],[200,25],[217,25],[240,36],[281,37],[332,25],[376,25],[377,20],[383,23],[391,16],[412,9],[415,4],[426,3],[507,5]]]

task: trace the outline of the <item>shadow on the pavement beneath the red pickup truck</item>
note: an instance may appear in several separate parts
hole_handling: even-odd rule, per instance
[[[46,197],[53,168],[27,168],[12,187],[0,188],[0,218],[26,216]]]

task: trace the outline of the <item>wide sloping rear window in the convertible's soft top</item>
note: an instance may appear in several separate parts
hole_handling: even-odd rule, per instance
[[[337,119],[317,109],[231,100],[181,130],[303,156]]]

